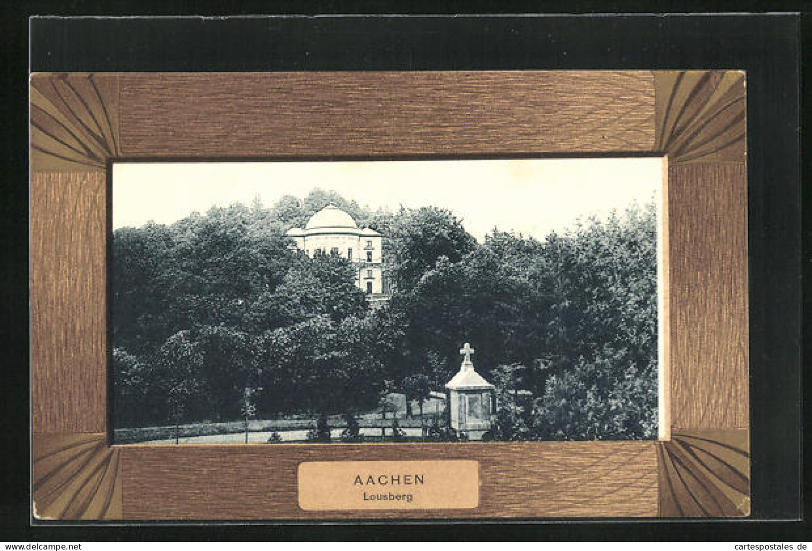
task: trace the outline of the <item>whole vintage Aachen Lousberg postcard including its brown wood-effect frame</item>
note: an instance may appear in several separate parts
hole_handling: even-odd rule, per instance
[[[743,72],[30,93],[35,519],[749,514]]]

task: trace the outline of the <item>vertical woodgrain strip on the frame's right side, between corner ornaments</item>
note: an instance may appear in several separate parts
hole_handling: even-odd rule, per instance
[[[747,428],[745,166],[670,166],[668,204],[672,427]]]

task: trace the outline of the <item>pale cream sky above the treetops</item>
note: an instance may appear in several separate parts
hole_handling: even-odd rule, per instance
[[[113,227],[171,224],[214,205],[266,207],[335,190],[372,209],[433,205],[477,240],[496,226],[544,239],[579,217],[659,199],[663,159],[114,163]]]

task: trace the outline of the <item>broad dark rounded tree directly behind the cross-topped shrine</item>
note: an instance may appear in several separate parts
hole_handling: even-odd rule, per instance
[[[409,370],[430,366],[434,384],[459,368],[462,342],[477,343],[477,368],[488,377],[498,364],[532,363],[544,348],[542,314],[526,277],[487,247],[457,262],[440,257],[408,292],[391,299],[404,312]]]

